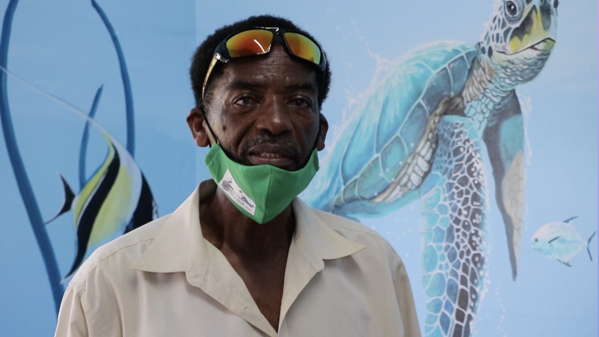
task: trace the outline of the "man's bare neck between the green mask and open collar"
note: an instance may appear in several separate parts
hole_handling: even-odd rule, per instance
[[[220,251],[230,251],[247,259],[263,259],[287,254],[295,231],[289,205],[273,220],[259,224],[243,215],[220,189],[199,207],[204,238]]]

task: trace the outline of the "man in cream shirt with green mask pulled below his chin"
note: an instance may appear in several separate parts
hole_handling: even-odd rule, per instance
[[[187,117],[213,180],[99,248],[57,336],[420,336],[401,259],[296,196],[318,168],[331,72],[292,22],[250,17],[196,50]]]

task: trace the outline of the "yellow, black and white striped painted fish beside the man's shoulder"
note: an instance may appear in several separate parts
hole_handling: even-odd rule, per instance
[[[77,255],[65,279],[83,262],[87,250],[155,219],[156,203],[140,168],[107,132],[108,155],[78,195],[60,175],[65,189],[62,208],[49,221],[72,210],[77,230]]]

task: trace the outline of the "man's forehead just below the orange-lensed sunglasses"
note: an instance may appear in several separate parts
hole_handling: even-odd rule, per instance
[[[308,61],[289,56],[277,43],[266,54],[240,57],[225,63],[215,84],[231,86],[241,81],[277,89],[301,85],[310,86],[316,92],[317,70]]]

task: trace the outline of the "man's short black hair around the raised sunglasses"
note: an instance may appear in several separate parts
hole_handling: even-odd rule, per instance
[[[222,62],[217,62],[214,66],[210,74],[210,78],[208,78],[208,83],[206,84],[206,92],[205,98],[202,102],[202,86],[204,85],[204,77],[206,76],[206,72],[208,72],[208,66],[210,66],[210,62],[212,57],[214,56],[214,50],[216,46],[226,37],[231,34],[235,34],[235,32],[243,31],[246,28],[253,27],[279,27],[284,29],[292,29],[297,32],[301,32],[307,37],[310,37],[312,40],[316,41],[308,32],[299,28],[295,23],[291,22],[288,19],[284,19],[282,17],[271,16],[271,15],[261,15],[261,16],[250,16],[245,20],[241,20],[233,23],[232,25],[226,25],[222,28],[214,31],[212,35],[209,35],[202,44],[195,50],[192,57],[192,63],[189,68],[189,77],[191,79],[193,96],[195,97],[195,105],[196,107],[200,107],[204,103],[207,105],[210,101],[211,90],[210,84],[214,82],[215,78],[219,78],[222,72]],[[322,47],[321,47],[322,48]],[[325,53],[325,51],[322,51]],[[325,54],[326,57],[326,54]],[[325,101],[326,96],[329,93],[329,88],[331,87],[331,67],[328,63],[325,72],[316,71],[316,80],[318,83],[318,106],[322,107],[322,102]],[[314,69],[317,69],[314,66]]]

